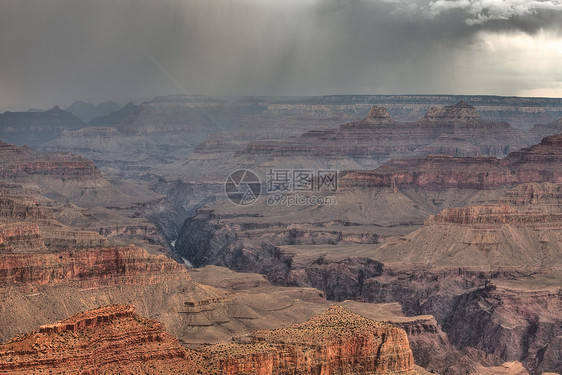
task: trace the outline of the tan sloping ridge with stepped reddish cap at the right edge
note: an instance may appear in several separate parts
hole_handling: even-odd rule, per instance
[[[376,259],[385,264],[431,268],[561,267],[560,198],[560,184],[529,184],[504,198],[519,205],[446,209],[431,216],[422,228],[379,246]],[[531,199],[534,202],[529,205]]]

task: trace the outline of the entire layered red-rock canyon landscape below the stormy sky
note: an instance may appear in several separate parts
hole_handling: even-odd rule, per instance
[[[4,115],[41,133],[0,129],[31,145],[0,144],[0,373],[562,371],[562,126],[528,116],[562,101],[399,99],[426,113],[170,96]],[[337,170],[337,204],[272,206],[275,166]],[[262,178],[252,204],[225,195],[237,169]]]

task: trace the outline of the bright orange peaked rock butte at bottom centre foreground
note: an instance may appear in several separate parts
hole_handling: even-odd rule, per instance
[[[250,347],[219,347],[236,353],[221,360],[227,374],[415,373],[404,330],[340,306],[305,323],[254,332],[250,339]]]

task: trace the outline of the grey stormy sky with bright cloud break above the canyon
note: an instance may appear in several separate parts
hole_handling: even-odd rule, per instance
[[[178,85],[562,97],[561,61],[562,0],[0,0],[1,108]]]

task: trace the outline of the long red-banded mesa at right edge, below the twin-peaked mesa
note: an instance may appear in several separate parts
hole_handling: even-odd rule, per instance
[[[343,186],[383,186],[442,190],[493,189],[529,182],[562,182],[562,134],[546,137],[536,146],[504,159],[428,156],[395,160],[373,171],[348,171]]]

